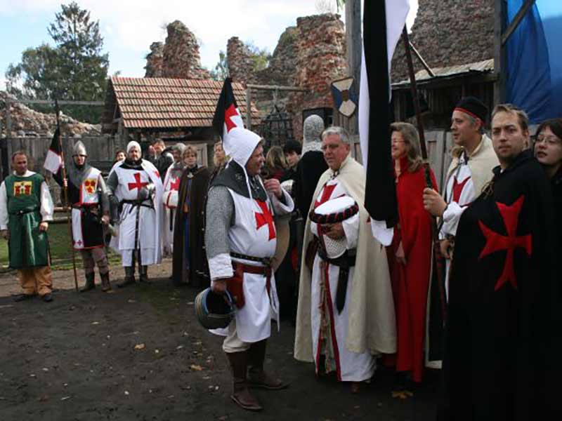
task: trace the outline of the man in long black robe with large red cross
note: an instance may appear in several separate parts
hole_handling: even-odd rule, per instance
[[[457,229],[442,420],[562,419],[553,400],[561,295],[552,196],[528,142],[526,114],[498,105],[492,143],[500,165]]]

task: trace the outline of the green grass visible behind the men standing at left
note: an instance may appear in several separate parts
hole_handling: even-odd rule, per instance
[[[72,269],[72,248],[70,248],[70,234],[65,222],[51,223],[48,228],[48,244],[51,248],[51,261],[54,270]],[[80,253],[75,252],[77,267],[82,267]],[[121,258],[113,250],[107,250],[107,260],[112,263],[120,263]],[[8,241],[0,241],[0,272],[8,270]]]

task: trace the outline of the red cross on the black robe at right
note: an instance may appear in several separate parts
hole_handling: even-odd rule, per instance
[[[504,283],[511,283],[514,289],[517,289],[517,278],[514,269],[514,250],[516,248],[524,248],[528,255],[532,252],[532,237],[530,234],[523,236],[516,236],[517,225],[519,221],[519,213],[523,207],[525,196],[519,197],[511,206],[504,205],[504,203],[496,202],[497,208],[502,219],[504,220],[507,236],[493,232],[490,228],[486,227],[482,221],[478,221],[482,234],[486,237],[486,244],[480,253],[479,258],[483,258],[491,253],[500,250],[507,250],[505,258],[504,269],[494,288],[495,291],[504,286]]]

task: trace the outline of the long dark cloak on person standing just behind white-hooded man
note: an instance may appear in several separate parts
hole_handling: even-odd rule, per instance
[[[192,175],[192,177],[189,177]],[[195,172],[185,168],[181,175],[178,190],[178,207],[174,225],[174,255],[172,260],[172,279],[179,286],[188,283],[197,288],[210,285],[207,255],[204,249],[204,209],[207,203],[207,190],[211,172],[207,167],[197,168]],[[189,197],[188,215],[185,215],[184,204]],[[189,218],[189,253],[186,256],[185,218]]]

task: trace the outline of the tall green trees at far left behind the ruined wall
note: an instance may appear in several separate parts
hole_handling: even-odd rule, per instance
[[[22,53],[18,65],[6,72],[8,89],[25,98],[51,100],[103,100],[107,85],[107,53],[99,22],[74,1],[61,5],[55,21],[48,27],[55,46],[41,45]],[[101,109],[64,107],[64,111],[81,121],[98,122]]]

